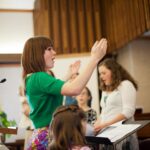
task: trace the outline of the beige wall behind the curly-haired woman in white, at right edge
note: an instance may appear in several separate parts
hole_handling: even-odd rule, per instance
[[[120,49],[118,62],[138,82],[137,107],[150,112],[150,39],[137,39]]]

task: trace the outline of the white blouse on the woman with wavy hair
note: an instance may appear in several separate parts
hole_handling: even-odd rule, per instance
[[[113,119],[119,113],[129,119],[135,112],[136,89],[130,81],[122,81],[116,90],[109,93],[102,92],[100,105],[102,107],[101,121]]]

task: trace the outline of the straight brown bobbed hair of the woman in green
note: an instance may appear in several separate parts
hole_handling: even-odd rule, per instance
[[[32,37],[26,41],[21,58],[23,78],[30,73],[45,71],[44,52],[52,46],[52,41],[43,36]]]

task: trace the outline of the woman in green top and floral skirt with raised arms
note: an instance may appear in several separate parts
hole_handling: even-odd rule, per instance
[[[30,106],[29,116],[35,127],[28,143],[28,150],[47,149],[48,126],[53,112],[62,105],[63,95],[75,96],[82,91],[99,60],[106,54],[106,50],[106,39],[95,42],[90,60],[84,70],[72,82],[64,82],[49,74],[49,70],[54,67],[56,57],[51,40],[37,36],[26,41],[21,58],[23,83]]]

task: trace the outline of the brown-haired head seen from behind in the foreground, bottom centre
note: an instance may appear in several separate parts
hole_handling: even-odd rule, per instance
[[[86,115],[77,105],[60,106],[53,114],[50,150],[85,145]]]

